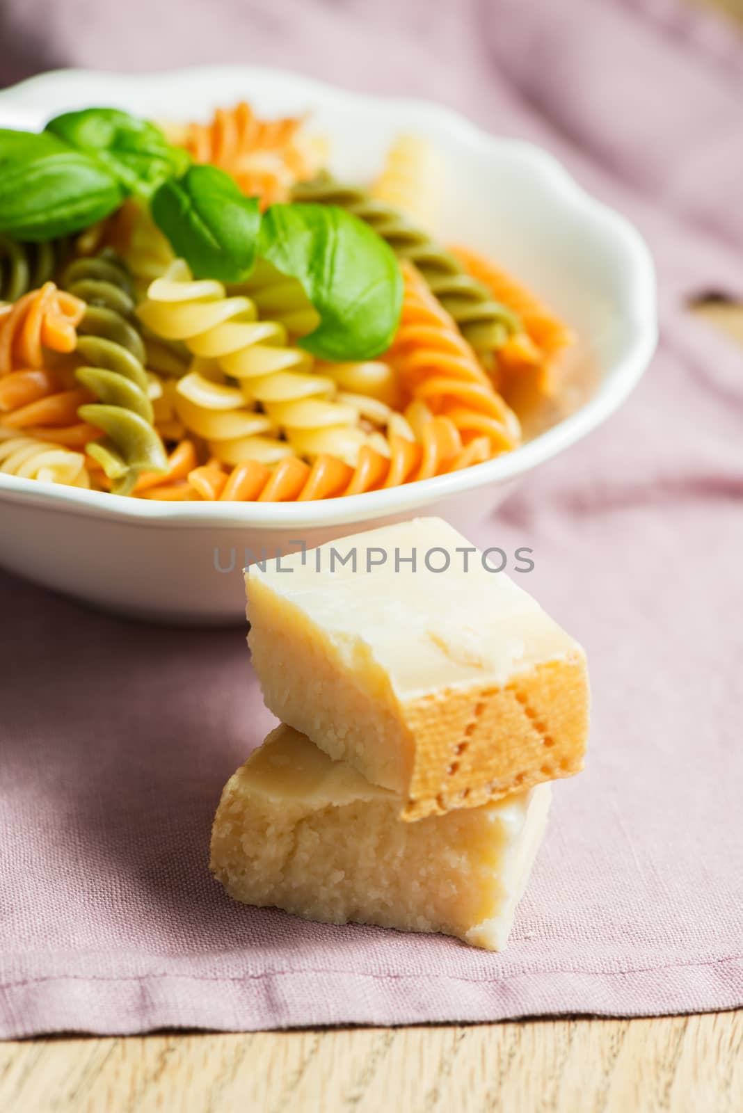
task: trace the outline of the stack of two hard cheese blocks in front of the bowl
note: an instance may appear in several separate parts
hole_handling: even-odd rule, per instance
[[[581,647],[435,518],[254,565],[246,585],[281,725],[222,792],[217,878],[246,904],[502,949],[548,782],[583,767]]]

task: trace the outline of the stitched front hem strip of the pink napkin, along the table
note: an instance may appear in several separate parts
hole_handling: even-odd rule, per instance
[[[714,984],[710,983],[714,967]],[[516,1006],[508,983],[469,982],[466,999],[462,979],[428,979],[420,1002],[404,999],[400,983],[419,985],[417,974],[389,979],[371,974],[286,972],[256,977],[205,978],[187,974],[131,978],[75,979],[50,977],[8,986],[0,993],[0,1038],[22,1038],[51,1032],[135,1035],[153,1028],[199,1028],[220,1032],[299,1028],[358,1024],[367,1026],[423,1023],[485,1023],[538,1016],[603,1017],[673,1016],[724,1012],[743,1006],[743,958],[676,965],[660,969],[596,975],[595,973],[523,973]],[[70,992],[70,981],[78,982]],[[198,995],[202,982],[224,988],[218,1005]],[[456,997],[449,986],[456,984]],[[566,1012],[566,985],[573,1006]],[[435,998],[432,1002],[432,993]],[[643,1008],[636,1006],[642,993]],[[308,1002],[314,1008],[308,1015]],[[90,1024],[80,1027],[81,1006]],[[101,1020],[96,1017],[100,1015]],[[112,1016],[118,1023],[112,1023]]]

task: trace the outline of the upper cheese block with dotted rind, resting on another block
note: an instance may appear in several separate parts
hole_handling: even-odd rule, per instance
[[[583,768],[583,649],[440,519],[252,565],[246,589],[267,706],[402,797],[404,819]]]

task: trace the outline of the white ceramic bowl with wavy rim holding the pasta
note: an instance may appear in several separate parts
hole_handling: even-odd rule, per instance
[[[493,138],[414,100],[357,96],[294,73],[217,67],[149,76],[68,70],[0,93],[0,126],[39,128],[60,111],[111,105],[147,117],[207,119],[251,101],[268,115],[309,110],[331,165],[374,175],[400,129],[429,137],[450,168],[437,232],[492,252],[587,342],[590,401],[508,455],[389,491],[295,504],[159,503],[0,474],[0,563],[38,583],[162,621],[244,621],[240,569],[364,528],[442,514],[458,524],[492,510],[513,482],[600,425],[644,372],[656,343],[653,264],[640,235],[536,147]],[[294,543],[293,543],[294,542]]]

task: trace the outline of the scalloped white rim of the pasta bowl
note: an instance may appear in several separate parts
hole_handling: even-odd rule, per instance
[[[254,80],[281,82],[288,90],[295,87],[298,93],[305,96],[311,92],[321,98],[343,98],[370,110],[384,102],[399,112],[400,119],[412,124],[416,119],[433,121],[438,127],[455,130],[458,139],[466,139],[481,148],[497,147],[517,156],[531,173],[548,183],[557,206],[563,209],[579,209],[585,226],[591,227],[593,235],[611,237],[614,242],[614,250],[617,258],[622,258],[625,270],[623,311],[628,327],[622,356],[607,370],[605,378],[587,402],[522,447],[486,463],[388,490],[305,503],[167,503],[120,499],[103,491],[89,491],[0,473],[0,494],[16,495],[26,503],[48,504],[55,509],[68,508],[78,514],[176,528],[188,524],[204,528],[281,529],[328,526],[387,518],[413,511],[460,491],[516,479],[591,433],[633,391],[647,367],[657,342],[655,270],[648,248],[625,217],[583,189],[554,156],[534,144],[491,136],[458,112],[433,101],[350,92],[325,81],[258,66],[205,66],[161,73],[128,75],[82,69],[52,70],[0,91],[0,108],[6,109],[16,102],[16,107],[20,109],[27,109],[29,105],[38,109],[41,100],[51,106],[52,90],[59,91],[60,86],[66,85],[97,81],[129,86],[147,82],[157,82],[158,86],[162,82],[179,85],[196,79],[208,81],[217,75],[231,75],[235,78],[249,75]],[[39,92],[46,96],[40,98]]]

